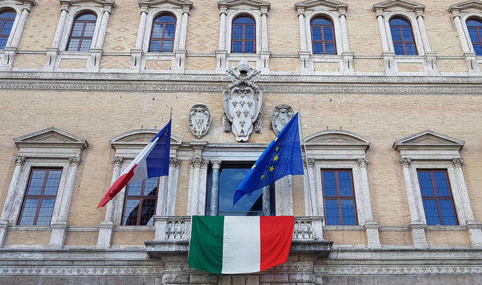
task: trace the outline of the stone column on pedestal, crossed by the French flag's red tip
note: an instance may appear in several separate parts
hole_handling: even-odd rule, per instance
[[[114,156],[112,158],[112,163],[114,164],[114,172],[112,173],[112,184],[121,175],[122,165],[124,163],[124,158],[122,156]],[[112,231],[114,230],[114,211],[116,209],[116,203],[118,202],[117,196],[107,202],[107,207],[105,209],[105,219],[104,222],[98,224],[98,237],[97,246],[99,247],[109,247],[112,240]]]

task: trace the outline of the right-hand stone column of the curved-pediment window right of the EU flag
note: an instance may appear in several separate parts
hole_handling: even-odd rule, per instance
[[[366,239],[368,241],[367,246],[369,248],[381,248],[380,235],[379,235],[379,224],[373,219],[373,209],[372,200],[370,198],[370,187],[368,186],[368,173],[366,171],[366,165],[368,164],[368,158],[358,158],[358,170],[359,170],[359,187],[363,219],[366,231]]]

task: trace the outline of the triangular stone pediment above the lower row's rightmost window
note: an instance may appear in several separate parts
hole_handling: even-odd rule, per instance
[[[457,138],[452,138],[444,134],[439,134],[435,131],[427,129],[412,136],[401,138],[393,143],[394,149],[401,148],[417,148],[417,147],[456,147],[461,149],[465,142]]]

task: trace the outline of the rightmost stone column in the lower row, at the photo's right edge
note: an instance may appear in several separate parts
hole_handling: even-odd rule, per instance
[[[457,191],[460,197],[461,209],[465,221],[467,222],[467,229],[470,236],[472,246],[482,246],[482,225],[476,222],[474,218],[474,211],[472,210],[472,204],[470,203],[470,197],[467,191],[467,184],[465,184],[465,178],[462,171],[462,158],[453,158],[452,165],[454,166],[454,172],[457,176],[457,188],[452,187],[452,191]]]

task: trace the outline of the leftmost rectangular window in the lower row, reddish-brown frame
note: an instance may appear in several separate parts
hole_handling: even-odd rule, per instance
[[[61,175],[62,169],[32,168],[18,224],[50,224]]]

